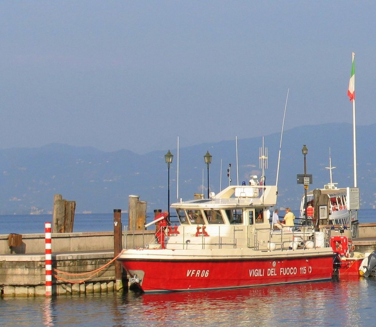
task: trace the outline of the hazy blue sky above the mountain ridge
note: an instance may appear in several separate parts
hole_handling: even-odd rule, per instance
[[[0,4],[0,148],[136,153],[376,123],[373,2]]]

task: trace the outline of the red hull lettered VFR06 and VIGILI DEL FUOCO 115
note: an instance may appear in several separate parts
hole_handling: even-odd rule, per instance
[[[333,256],[229,260],[118,259],[144,292],[242,288],[328,280]]]

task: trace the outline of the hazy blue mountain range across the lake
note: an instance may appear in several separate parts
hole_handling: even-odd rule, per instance
[[[254,122],[256,123],[256,122]],[[376,207],[376,124],[358,126],[357,175],[361,208]],[[234,130],[236,127],[229,126]],[[252,128],[252,123],[250,123]],[[267,124],[265,124],[267,128]],[[280,132],[265,133],[268,148],[266,184],[275,184]],[[180,144],[182,140],[180,140]],[[259,148],[262,138],[238,139],[239,183],[251,175],[261,176]],[[303,174],[302,147],[306,144],[307,173],[313,175],[309,189],[329,183],[329,147],[332,153],[333,182],[338,187],[353,186],[352,125],[346,123],[301,126],[283,135],[278,181],[278,207],[298,208],[303,185],[296,174]],[[147,201],[147,211],[167,210],[167,164],[163,151],[138,155],[128,150],[103,152],[92,147],[49,144],[39,148],[0,150],[0,214],[50,213],[53,195],[76,201],[76,213],[108,213],[128,210],[128,196],[139,195]],[[209,167],[210,191],[217,193],[229,184],[227,168],[231,163],[231,184],[237,183],[235,136],[231,141],[206,143],[179,149],[179,195],[177,194],[177,150],[170,168],[170,203],[188,200],[194,193],[207,194],[207,169],[203,156],[212,154]],[[221,173],[222,160],[222,174]],[[222,176],[221,176],[222,175]]]

